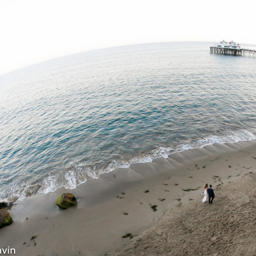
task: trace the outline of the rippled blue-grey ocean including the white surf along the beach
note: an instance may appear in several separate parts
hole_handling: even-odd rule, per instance
[[[255,58],[210,42],[107,48],[0,76],[0,201],[256,138]]]

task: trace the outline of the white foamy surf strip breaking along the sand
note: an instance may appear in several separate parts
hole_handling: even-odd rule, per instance
[[[240,131],[240,132],[242,132],[242,131]],[[245,134],[246,134],[246,132],[245,132]],[[243,135],[245,135],[245,134],[243,134]],[[247,134],[247,136],[248,136],[247,139],[249,141],[254,141],[254,140],[256,141],[255,136],[250,134],[250,132]],[[240,143],[240,142],[245,142],[245,143],[249,142],[249,141],[243,141],[242,137],[240,138],[241,141],[236,141],[236,142],[234,142],[234,141],[224,142],[224,141],[226,141],[225,139],[223,139],[221,137],[217,137],[217,139],[215,138],[215,141],[219,141],[219,139],[220,139],[221,142],[215,142],[215,143],[211,142],[211,143],[212,144],[232,145],[232,144]],[[160,148],[156,149],[155,151],[153,150],[151,152],[151,154],[148,153],[144,156],[131,157],[131,159],[129,159],[127,161],[115,162],[113,160],[112,162],[106,164],[105,168],[103,168],[101,171],[97,170],[98,174],[94,175],[94,173],[93,173],[93,175],[89,175],[91,178],[87,177],[87,179],[85,179],[85,180],[83,180],[83,178],[80,179],[80,176],[84,176],[86,174],[84,174],[83,171],[80,172],[80,170],[78,170],[77,176],[74,175],[74,180],[72,180],[72,182],[70,182],[70,183],[68,182],[68,184],[64,184],[65,182],[67,182],[66,177],[65,177],[65,181],[63,183],[61,180],[58,180],[58,177],[57,177],[58,174],[56,174],[56,175],[52,174],[50,176],[46,176],[42,180],[38,180],[35,184],[27,184],[27,185],[23,184],[22,186],[20,186],[20,188],[16,188],[16,190],[15,190],[15,192],[13,192],[13,194],[9,194],[9,196],[6,196],[5,198],[0,199],[0,202],[6,203],[6,204],[8,204],[8,206],[11,207],[14,204],[20,204],[25,198],[35,196],[36,194],[48,194],[48,193],[57,191],[60,188],[65,188],[66,190],[74,190],[76,187],[83,185],[88,180],[99,179],[100,175],[106,174],[106,173],[111,173],[111,172],[113,172],[114,169],[122,169],[122,168],[132,169],[132,166],[134,166],[135,164],[147,164],[147,163],[157,161],[157,159],[168,158],[168,157],[172,158],[172,155],[175,155],[177,153],[182,153],[184,151],[189,152],[190,150],[198,150],[200,148],[205,148],[205,147],[211,146],[212,145],[212,144],[210,144],[211,139],[209,139],[209,138],[204,138],[203,141],[199,140],[199,141],[196,141],[193,143],[181,144],[180,147],[176,148],[175,150],[174,149],[172,150],[168,147],[167,148],[160,147]],[[254,139],[252,139],[252,138],[254,138]],[[223,139],[223,141],[222,141],[222,139]],[[74,174],[73,173],[74,171],[76,173],[76,170],[72,169],[71,174]],[[64,171],[64,173],[65,173],[65,171]],[[63,176],[62,172],[60,172],[60,176]],[[92,177],[94,177],[94,178],[92,178]],[[51,181],[50,182],[48,181],[48,179],[51,180],[52,178],[58,180],[58,181],[56,181],[56,184],[58,184],[58,185],[56,185],[55,182],[53,182],[53,184],[52,184]],[[64,177],[62,177],[62,178],[64,178]],[[47,185],[45,185],[46,180],[47,180],[47,182],[46,182]]]

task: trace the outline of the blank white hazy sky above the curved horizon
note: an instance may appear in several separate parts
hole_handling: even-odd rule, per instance
[[[255,1],[0,0],[0,75],[72,53],[147,42],[256,45]]]

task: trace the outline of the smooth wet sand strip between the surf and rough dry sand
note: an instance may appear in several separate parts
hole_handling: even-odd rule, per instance
[[[1,246],[15,248],[17,255],[114,252],[128,246],[166,212],[202,199],[200,191],[206,182],[217,196],[218,188],[255,173],[254,157],[255,140],[215,143],[118,168],[74,190],[62,187],[36,194],[10,209],[14,223],[0,230]],[[57,208],[57,197],[64,192],[75,194],[76,207]],[[121,238],[126,234],[133,237]],[[36,239],[30,241],[32,236]]]

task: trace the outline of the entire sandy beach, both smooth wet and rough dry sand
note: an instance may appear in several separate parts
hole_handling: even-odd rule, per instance
[[[190,149],[115,169],[10,209],[16,255],[256,255],[256,142]],[[205,183],[214,203],[202,203]],[[59,194],[77,206],[59,210]]]

